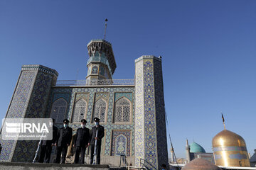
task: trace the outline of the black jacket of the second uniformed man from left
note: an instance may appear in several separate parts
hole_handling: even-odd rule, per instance
[[[57,141],[58,147],[70,145],[72,140],[73,129],[70,127],[60,128],[58,130]]]

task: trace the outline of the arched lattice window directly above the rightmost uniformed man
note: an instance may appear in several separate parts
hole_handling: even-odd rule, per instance
[[[93,118],[95,117],[100,118],[100,122],[105,123],[106,108],[107,108],[107,103],[105,100],[103,100],[102,98],[97,100],[93,108]]]

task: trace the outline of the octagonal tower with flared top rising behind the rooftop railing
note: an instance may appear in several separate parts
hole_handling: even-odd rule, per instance
[[[117,64],[112,45],[106,40],[91,40],[88,45],[87,84],[100,84],[102,79],[112,79]]]

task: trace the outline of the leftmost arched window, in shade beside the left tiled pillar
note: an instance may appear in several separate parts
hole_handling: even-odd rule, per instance
[[[53,103],[52,109],[50,111],[50,118],[54,118],[56,123],[62,123],[65,118],[65,111],[67,106],[67,101],[65,101],[63,98],[59,98]]]

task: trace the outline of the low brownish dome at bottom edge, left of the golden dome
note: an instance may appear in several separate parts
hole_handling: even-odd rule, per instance
[[[208,162],[206,159],[198,158],[193,159],[193,161],[189,162],[181,170],[221,170],[218,166]]]

